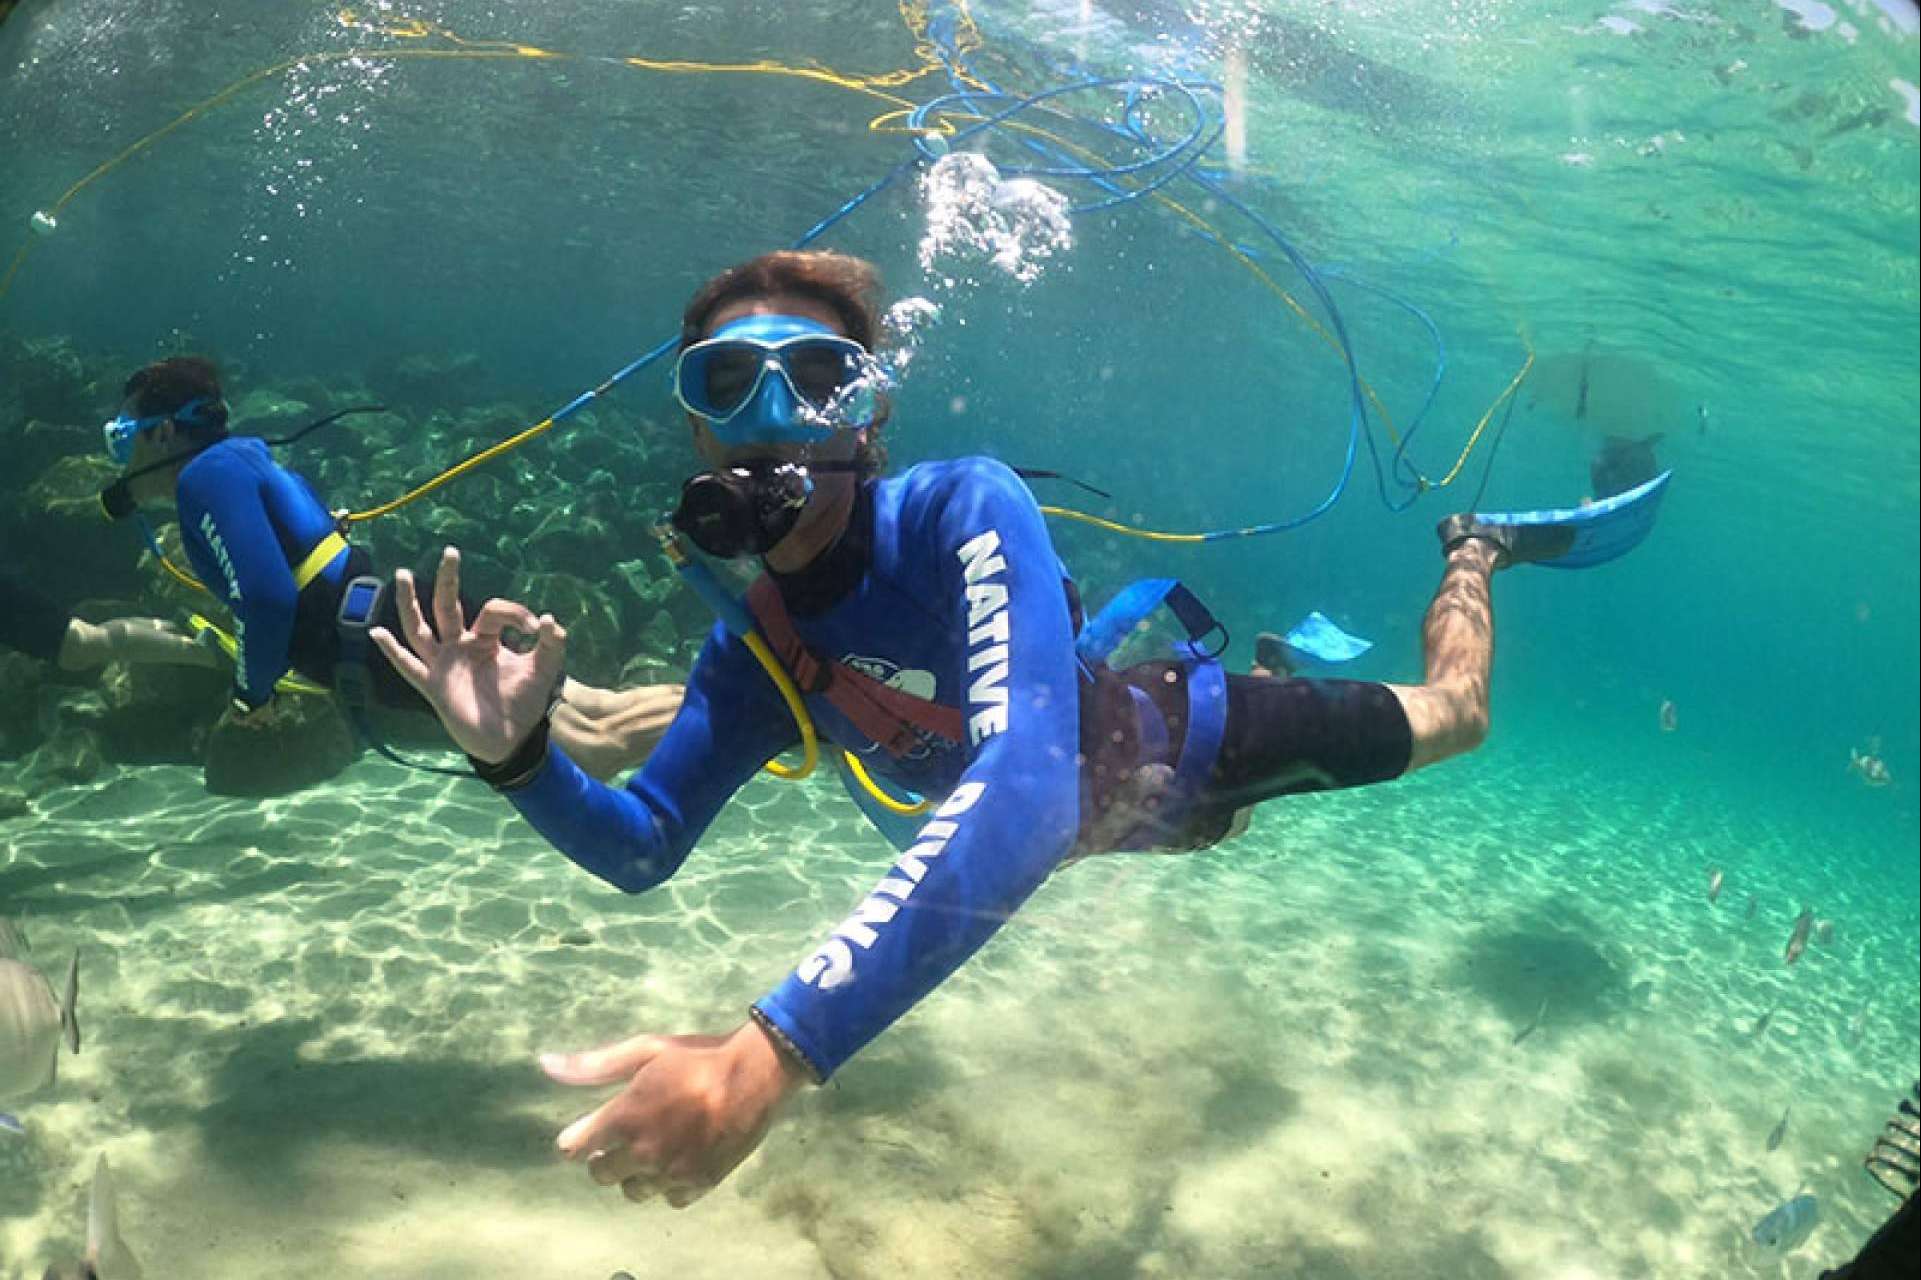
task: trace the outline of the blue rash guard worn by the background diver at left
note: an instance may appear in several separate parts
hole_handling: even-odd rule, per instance
[[[252,436],[221,440],[181,467],[175,504],[186,559],[234,615],[234,698],[265,705],[292,667],[294,565],[334,530],[334,517]],[[346,561],[342,548],[321,577],[338,586]]]

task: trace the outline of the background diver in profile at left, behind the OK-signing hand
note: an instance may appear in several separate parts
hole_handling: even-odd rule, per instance
[[[127,379],[106,446],[125,469],[100,496],[106,513],[121,519],[142,504],[171,504],[194,573],[232,611],[240,723],[271,715],[275,688],[290,673],[350,692],[350,702],[428,709],[371,644],[361,640],[365,652],[355,655],[369,623],[398,617],[392,592],[304,477],[275,463],[267,442],[229,434],[211,361],[175,356]],[[599,690],[565,680],[553,728],[597,776],[611,776],[645,757],[678,705],[678,686]]]

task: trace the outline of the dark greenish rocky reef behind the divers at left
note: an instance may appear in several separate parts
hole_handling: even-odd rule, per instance
[[[204,613],[227,625],[211,596],[161,569],[131,521],[100,513],[100,486],[115,469],[98,423],[148,357],[0,334],[8,446],[0,548],[10,567],[77,617],[182,623]],[[244,369],[223,363],[223,381],[240,434],[284,436],[338,409],[384,406],[277,450],[328,507],[361,511],[553,411],[513,400],[461,404],[476,365],[467,354],[409,356],[365,381],[250,382]],[[690,465],[678,427],[611,398],[392,515],[357,523],[352,540],[382,573],[430,571],[444,546],[459,546],[473,600],[509,596],[561,619],[574,678],[676,680],[711,617],[678,586],[651,527]],[[173,563],[186,567],[179,532],[158,521],[158,534]],[[321,782],[355,757],[353,730],[332,698],[282,698],[269,717],[234,723],[229,684],[229,673],[181,667],[71,675],[0,652],[0,790],[31,798],[83,782],[106,763],[188,763],[206,769],[215,792],[265,796]],[[436,732],[428,725],[401,736],[430,742]],[[0,805],[0,821],[8,813]]]

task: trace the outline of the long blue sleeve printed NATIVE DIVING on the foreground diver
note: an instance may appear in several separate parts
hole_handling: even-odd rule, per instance
[[[972,759],[834,934],[755,1003],[826,1078],[960,967],[1058,865],[1080,819],[1080,690],[1060,561],[1033,496],[985,459],[941,500],[939,565],[966,632]]]

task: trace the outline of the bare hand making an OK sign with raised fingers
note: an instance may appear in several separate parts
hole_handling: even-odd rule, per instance
[[[434,625],[421,613],[413,575],[394,575],[401,646],[384,627],[369,636],[394,671],[432,707],[453,744],[474,759],[499,763],[547,715],[561,684],[567,632],[551,613],[534,615],[513,600],[488,600],[473,621],[461,617],[461,554],[448,548],[434,575]],[[501,636],[517,630],[534,638],[524,653]]]

